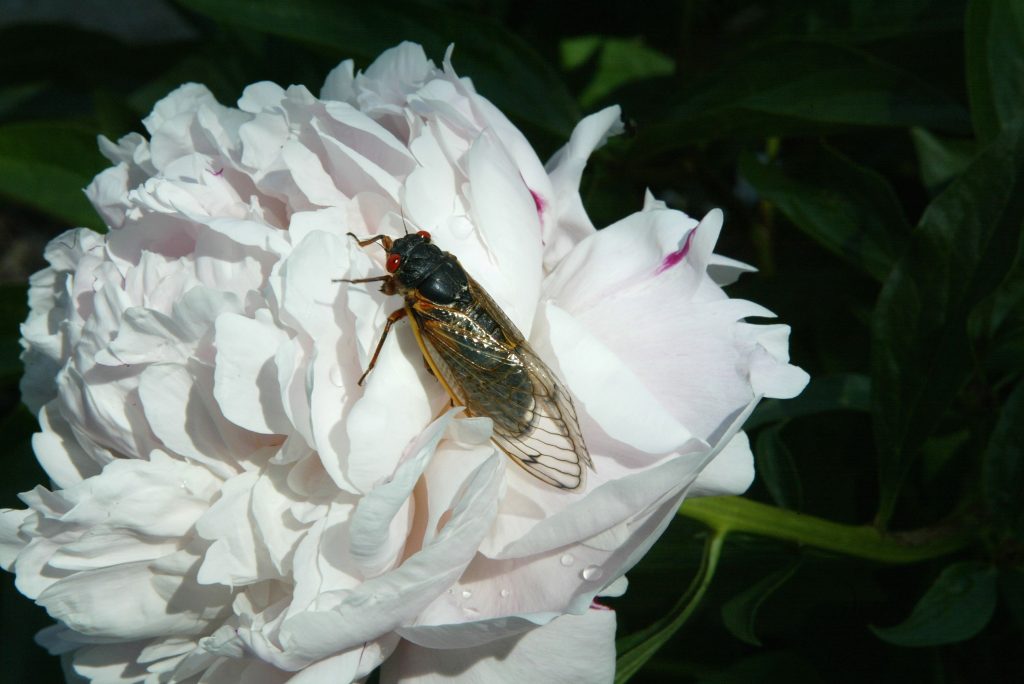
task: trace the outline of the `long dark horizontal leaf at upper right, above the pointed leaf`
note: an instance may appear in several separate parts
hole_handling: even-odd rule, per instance
[[[639,157],[705,140],[924,126],[967,133],[967,112],[952,97],[866,52],[816,41],[762,45],[690,87],[658,91],[654,121],[641,126]]]

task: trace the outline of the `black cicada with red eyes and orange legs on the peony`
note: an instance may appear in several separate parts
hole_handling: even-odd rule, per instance
[[[432,244],[426,230],[394,240],[348,234],[359,247],[380,243],[388,272],[344,282],[381,283],[381,292],[404,299],[387,317],[359,384],[377,364],[391,326],[408,318],[427,368],[453,404],[494,421],[494,442],[534,477],[560,489],[581,488],[594,466],[572,398],[459,259]]]

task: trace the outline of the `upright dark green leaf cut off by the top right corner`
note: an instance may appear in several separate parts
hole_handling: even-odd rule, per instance
[[[965,32],[971,116],[988,142],[1024,112],[1024,4],[972,0]]]

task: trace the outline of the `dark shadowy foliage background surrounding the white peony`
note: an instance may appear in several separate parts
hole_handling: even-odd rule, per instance
[[[1024,681],[1015,0],[0,0],[0,506],[45,481],[17,325],[46,241],[102,229],[80,189],[106,166],[95,135],[141,131],[185,81],[225,104],[259,80],[315,93],[340,59],[366,67],[404,39],[437,62],[455,43],[460,75],[542,159],[622,104],[627,134],[584,179],[595,224],[648,187],[697,217],[725,210],[717,251],[759,268],[730,294],[791,325],[812,376],[756,414],[748,498],[898,543],[961,540],[877,562],[729,535],[708,594],[634,681]],[[610,601],[621,637],[680,614],[707,538],[673,523]],[[48,618],[2,580],[0,678],[59,681],[32,641]]]

